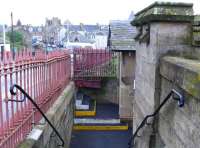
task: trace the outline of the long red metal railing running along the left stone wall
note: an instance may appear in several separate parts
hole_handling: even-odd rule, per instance
[[[2,55],[1,55],[2,56]],[[40,113],[26,100],[22,103],[22,93],[9,93],[12,84],[18,84],[32,96],[43,112],[54,103],[60,92],[70,81],[71,61],[66,51],[45,52],[23,51],[12,59],[5,53],[0,63],[0,147],[14,148],[22,141],[35,123],[41,119]]]

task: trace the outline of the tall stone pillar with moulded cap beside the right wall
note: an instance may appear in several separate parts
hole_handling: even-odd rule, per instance
[[[133,132],[160,104],[160,57],[191,49],[192,7],[192,4],[185,3],[156,2],[138,12],[132,21],[138,31],[135,36],[137,65]],[[157,123],[156,118],[152,122]],[[154,147],[156,125],[145,126],[139,132],[141,137],[136,138],[136,147]]]

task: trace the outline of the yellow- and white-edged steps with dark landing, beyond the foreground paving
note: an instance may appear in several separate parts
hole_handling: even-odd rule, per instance
[[[73,130],[76,131],[124,131],[128,124],[121,122],[118,107],[114,104],[97,104],[94,99],[79,94],[76,100],[76,110]],[[81,99],[80,99],[81,98]],[[80,106],[88,105],[88,109]]]

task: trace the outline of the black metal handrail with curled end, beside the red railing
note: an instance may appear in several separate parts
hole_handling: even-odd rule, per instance
[[[13,101],[13,102],[23,102],[26,97],[31,101],[31,103],[37,108],[37,110],[41,113],[41,115],[44,117],[44,119],[47,121],[47,123],[51,126],[51,128],[53,129],[53,131],[56,133],[56,135],[59,137],[60,141],[62,142],[61,144],[59,144],[58,146],[62,146],[64,147],[64,140],[62,139],[61,135],[59,134],[59,132],[56,130],[56,128],[53,126],[53,124],[51,123],[51,121],[47,118],[47,116],[43,113],[43,111],[40,109],[40,107],[37,105],[37,103],[29,96],[29,94],[27,94],[24,89],[17,85],[17,84],[14,84],[10,87],[10,93],[12,95],[16,95],[17,93],[14,92],[14,88],[17,88],[19,89],[24,95],[25,97],[22,99],[22,100],[14,100],[14,99],[8,99],[8,101]]]

